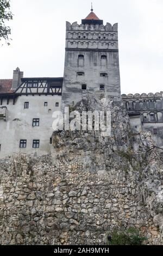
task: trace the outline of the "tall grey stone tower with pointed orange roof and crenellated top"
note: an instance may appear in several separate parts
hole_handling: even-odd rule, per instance
[[[104,26],[93,9],[81,25],[66,22],[62,106],[77,103],[87,94],[121,94],[117,27],[117,23]]]

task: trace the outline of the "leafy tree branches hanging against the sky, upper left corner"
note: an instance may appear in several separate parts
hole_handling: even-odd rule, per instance
[[[5,22],[12,20],[13,15],[10,11],[10,0],[0,0],[0,41],[4,39],[8,45],[11,28]]]

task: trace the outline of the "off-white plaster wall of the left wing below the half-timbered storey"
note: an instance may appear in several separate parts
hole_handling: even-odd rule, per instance
[[[24,102],[29,102],[29,108],[24,109]],[[47,107],[44,107],[44,102],[48,102]],[[59,102],[59,107],[55,107],[55,102]],[[15,105],[12,100],[9,101],[9,105],[7,100],[3,100],[2,106],[7,106],[7,121],[0,120],[0,158],[12,153],[37,155],[50,153],[52,114],[60,110],[60,104],[59,95],[19,96]],[[49,109],[51,109],[50,113]],[[32,126],[33,118],[40,118],[40,126]],[[27,139],[27,148],[20,148],[20,139]],[[32,147],[33,139],[40,139],[40,148]]]

